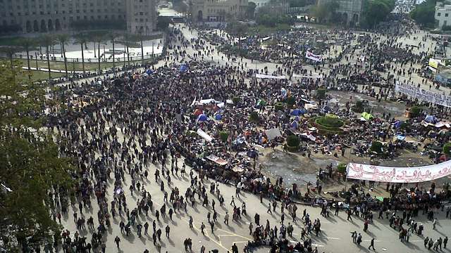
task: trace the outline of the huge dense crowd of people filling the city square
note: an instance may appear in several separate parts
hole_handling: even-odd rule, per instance
[[[231,52],[221,58],[226,65],[206,63],[220,53],[220,48],[207,41],[221,44],[233,38],[225,39],[216,34],[204,37],[206,39],[186,39],[180,28],[173,26],[168,36],[170,50],[164,58],[166,64],[159,67],[141,65],[141,70],[135,68],[121,74],[107,74],[91,82],[62,85],[56,98],[63,100],[66,106],[48,108],[47,127],[54,133],[60,154],[73,157],[79,170],[72,174],[77,182],[73,190],[55,188],[49,195],[54,201],[54,219],[61,223],[61,217],[66,217],[68,209],[72,208],[77,231],[65,229],[61,235],[54,235],[53,245],[49,242],[44,251],[50,252],[53,247],[68,253],[105,252],[104,237],[114,226],[113,221],[118,221],[122,233],[114,239],[118,248],[123,238],[135,233],[139,238],[152,235],[154,247],[161,251],[162,241],[171,240],[173,215],[186,214],[190,217],[190,228],[193,228],[190,211],[197,203],[213,208],[207,216],[209,223],[202,222],[200,226],[202,234],[206,226],[210,226],[213,233],[221,221],[228,225],[228,212],[224,215],[216,212],[216,203],[231,208],[232,221],[252,215],[247,213],[245,202],[235,205],[233,197],[230,205],[225,204],[225,193],[221,192],[217,182],[236,186],[235,197],[240,197],[241,190],[259,195],[260,202],[268,204],[268,213],[280,207],[280,222],[276,225],[271,225],[268,220],[260,222],[258,212],[252,215],[254,220],[249,224],[252,241],[247,243],[245,250],[270,245],[271,252],[319,252],[312,238],[321,234],[321,219],[328,219],[330,209],[335,209],[335,215],[345,209],[348,220],[353,216],[360,217],[364,232],[371,229],[373,212],[378,212],[378,219],[390,219],[390,227],[400,232],[402,242],[409,242],[412,232],[421,235],[425,228],[415,221],[416,217],[422,211],[428,219],[435,219],[435,213],[444,208],[443,200],[450,197],[448,184],[440,190],[433,184],[429,188],[415,186],[408,191],[401,185],[387,184],[390,197],[378,201],[365,192],[362,183],[356,182],[331,200],[314,195],[309,184],[301,193],[297,184],[287,186],[283,179],[274,181],[265,176],[264,168],[258,162],[261,151],[255,148],[258,145],[274,149],[283,145],[283,140],[292,133],[315,137],[315,141],[303,141],[308,157],[311,153],[344,156],[345,149],[352,150],[352,155],[371,156],[374,141],[387,143],[389,157],[394,157],[397,150],[404,148],[402,142],[393,141],[397,135],[412,136],[419,143],[426,139],[439,146],[447,143],[446,134],[428,135],[431,126],[420,124],[426,114],[407,119],[406,124],[411,127],[401,128],[396,123],[399,119],[390,112],[362,121],[352,110],[352,105],[357,102],[352,98],[345,105],[339,105],[330,103],[330,96],[316,96],[316,90],[326,88],[347,91],[351,97],[354,93],[365,94],[379,102],[392,99],[406,101],[408,105],[421,103],[393,91],[395,82],[413,84],[412,74],[421,72],[418,65],[424,62],[428,51],[416,51],[397,42],[402,36],[415,37],[416,32],[415,29],[399,28],[393,32],[396,36],[388,38],[384,34],[359,36],[346,30],[295,30],[275,35],[273,39],[283,41],[280,42],[282,47],[271,45],[266,49],[261,49],[264,38],[239,39],[238,46],[245,46],[250,54],[255,54],[255,59],[278,63],[274,70],[268,67],[259,70],[248,66],[242,58],[231,59],[235,57]],[[345,49],[335,52],[338,57],[335,60],[314,63],[314,72],[304,61],[294,63],[289,60],[299,50],[298,46],[302,46],[299,39],[307,39],[312,34],[323,41],[341,38],[345,44]],[[426,39],[427,36],[415,39],[418,48],[423,48],[421,50],[426,50]],[[189,49],[194,50],[192,55],[187,52]],[[362,56],[365,60],[360,60]],[[395,63],[393,58],[397,59]],[[342,62],[338,62],[340,60]],[[387,77],[382,77],[381,72]],[[257,79],[255,74],[286,74],[289,78]],[[294,74],[302,76],[295,77]],[[383,78],[387,83],[385,87],[362,84],[362,79],[381,82]],[[290,97],[295,98],[293,110],[276,110],[276,103]],[[304,115],[292,115],[295,109],[306,108],[311,101],[316,101],[316,108],[309,107]],[[427,102],[421,105],[440,118],[450,114],[450,110],[435,108]],[[325,111],[326,107],[329,109]],[[255,112],[257,120],[251,117]],[[349,127],[345,129],[345,135],[323,135],[311,130],[307,119],[326,113],[346,120]],[[270,139],[269,129],[279,129],[280,136]],[[227,134],[226,138],[221,138],[223,133]],[[434,156],[433,162],[439,162],[438,157]],[[329,171],[332,171],[331,167]],[[326,176],[327,179],[331,177],[332,172]],[[172,182],[175,178],[186,179],[189,186],[175,185]],[[322,184],[321,179],[312,184],[316,185],[314,189],[319,195]],[[164,195],[162,205],[153,201],[147,187],[161,190]],[[86,213],[83,210],[91,209],[95,202],[99,206],[97,219],[83,215]],[[306,209],[298,217],[296,202],[320,207],[321,219],[314,219]],[[292,221],[285,221],[285,210]],[[302,221],[301,238],[292,244],[288,238],[294,231],[292,224],[298,221]],[[87,231],[91,238],[84,236]],[[165,236],[162,237],[163,231]],[[362,242],[362,235],[357,232],[352,233],[352,238],[357,245]],[[429,249],[441,249],[442,245],[446,247],[447,237],[435,242],[425,238],[424,242]],[[192,238],[183,239],[183,245],[185,250],[191,250]],[[374,239],[369,246],[374,249]],[[204,245],[200,249],[206,252]],[[217,249],[211,250],[217,252]],[[152,251],[145,249],[144,253]],[[238,252],[237,246],[233,245],[231,251]]]

